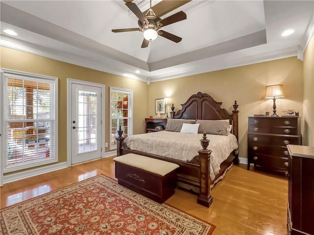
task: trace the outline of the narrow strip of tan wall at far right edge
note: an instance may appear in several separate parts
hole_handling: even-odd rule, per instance
[[[314,146],[314,37],[303,54],[303,145]]]

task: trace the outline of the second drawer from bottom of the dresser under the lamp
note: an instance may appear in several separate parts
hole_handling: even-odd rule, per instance
[[[264,154],[264,155],[272,155],[275,157],[285,157],[288,158],[288,149],[285,146],[279,145],[267,145],[267,144],[259,144],[259,143],[249,143],[248,152],[250,154]]]

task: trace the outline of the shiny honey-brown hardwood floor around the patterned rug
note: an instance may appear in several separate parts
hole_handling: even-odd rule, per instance
[[[234,165],[212,189],[210,208],[198,205],[196,195],[181,189],[166,203],[216,225],[213,235],[286,235],[288,181],[253,168]],[[112,158],[5,184],[0,188],[0,208],[99,174],[114,178]]]

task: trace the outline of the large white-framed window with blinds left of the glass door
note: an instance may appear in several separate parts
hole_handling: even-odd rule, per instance
[[[1,81],[4,172],[56,162],[57,78],[2,70]]]

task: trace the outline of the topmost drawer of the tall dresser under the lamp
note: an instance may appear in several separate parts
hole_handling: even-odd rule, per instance
[[[298,118],[249,118],[249,125],[255,126],[277,126],[277,127],[297,127]]]

